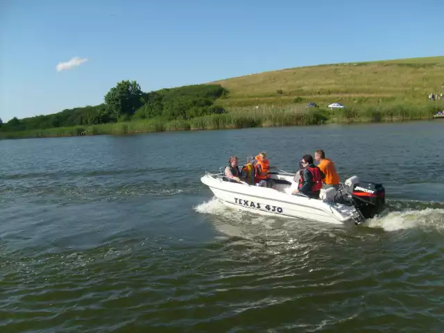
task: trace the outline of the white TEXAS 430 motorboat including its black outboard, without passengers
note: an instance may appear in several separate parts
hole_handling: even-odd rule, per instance
[[[352,176],[334,188],[321,189],[319,198],[293,194],[298,188],[300,172],[279,170],[268,176],[274,188],[247,182],[236,182],[219,173],[206,172],[200,178],[223,204],[258,214],[280,215],[289,218],[360,225],[384,210],[385,189],[375,182],[360,182]]]

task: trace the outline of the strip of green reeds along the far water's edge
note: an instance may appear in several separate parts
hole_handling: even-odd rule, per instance
[[[135,120],[94,126],[48,128],[23,132],[0,132],[0,139],[32,137],[72,137],[79,135],[130,135],[173,130],[218,130],[266,126],[309,126],[323,123],[409,121],[432,119],[444,108],[444,101],[424,105],[357,105],[352,108],[328,110],[305,108],[302,105],[256,105],[230,108],[225,114],[212,114],[186,120]]]

